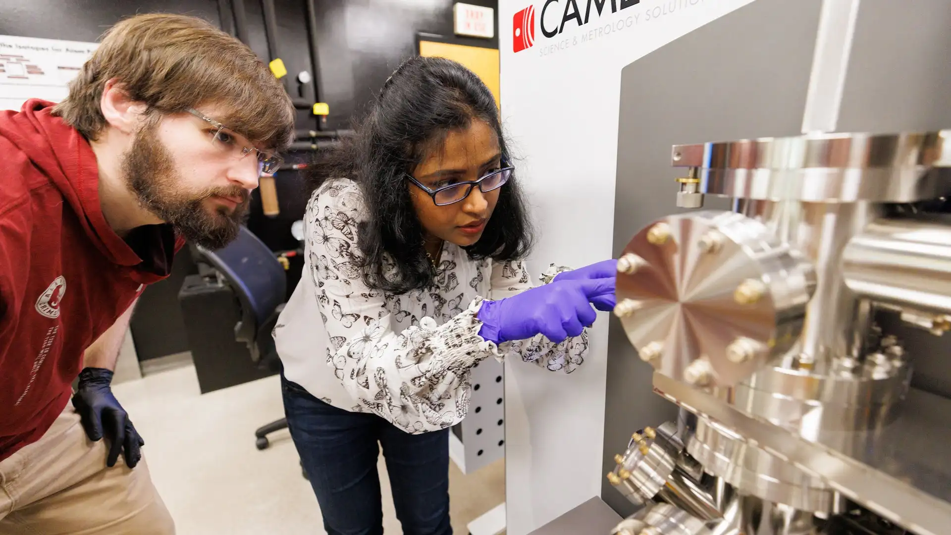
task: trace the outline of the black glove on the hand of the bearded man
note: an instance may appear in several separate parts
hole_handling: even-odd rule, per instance
[[[125,448],[126,465],[134,468],[142,459],[142,440],[128,419],[126,409],[112,395],[109,383],[112,372],[104,367],[85,367],[79,372],[79,388],[72,396],[72,406],[83,419],[89,440],[96,442],[105,435],[109,440],[106,466],[115,466],[119,452]]]

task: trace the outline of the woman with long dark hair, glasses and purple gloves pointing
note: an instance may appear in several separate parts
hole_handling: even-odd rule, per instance
[[[380,443],[403,533],[452,533],[449,427],[466,416],[471,368],[494,357],[572,372],[592,305],[613,307],[614,261],[534,286],[495,99],[446,59],[404,62],[318,169],[305,273],[275,340],[324,526],[382,533]]]

